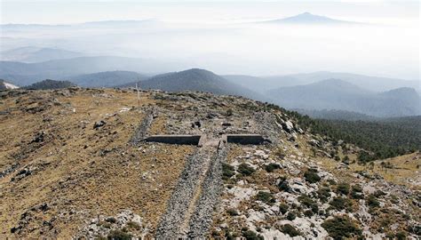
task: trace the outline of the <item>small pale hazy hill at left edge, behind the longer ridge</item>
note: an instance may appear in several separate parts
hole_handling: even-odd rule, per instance
[[[40,48],[34,46],[20,47],[0,52],[1,60],[21,62],[41,62],[82,57],[82,52],[72,52],[57,48]]]

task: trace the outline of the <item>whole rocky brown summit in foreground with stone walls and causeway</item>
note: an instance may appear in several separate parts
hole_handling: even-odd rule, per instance
[[[203,92],[8,90],[0,130],[1,239],[421,234],[418,152],[358,164],[364,149],[314,135],[267,103]]]

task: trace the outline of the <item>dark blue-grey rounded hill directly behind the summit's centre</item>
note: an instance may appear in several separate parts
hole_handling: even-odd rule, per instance
[[[134,84],[126,84],[126,86],[134,86]],[[253,92],[237,84],[232,84],[211,71],[198,68],[153,76],[145,81],[139,82],[139,87],[142,89],[159,89],[168,92],[212,92],[215,94],[243,96],[255,100],[265,99],[265,97],[257,92]]]

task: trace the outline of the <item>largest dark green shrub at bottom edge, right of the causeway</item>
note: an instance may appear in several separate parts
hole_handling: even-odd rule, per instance
[[[346,216],[338,216],[322,223],[324,228],[333,239],[344,239],[361,236],[361,229]]]

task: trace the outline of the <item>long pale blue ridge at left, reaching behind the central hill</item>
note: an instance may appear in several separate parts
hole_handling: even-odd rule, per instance
[[[14,84],[28,85],[42,79],[66,79],[68,76],[105,71],[136,71],[156,73],[181,68],[177,62],[161,62],[114,56],[80,57],[68,60],[49,60],[37,63],[0,61],[0,78]]]

